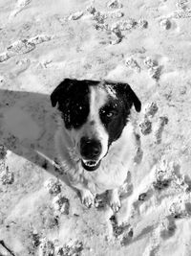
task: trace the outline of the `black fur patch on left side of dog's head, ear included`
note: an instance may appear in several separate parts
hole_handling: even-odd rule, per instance
[[[90,85],[98,82],[66,79],[54,89],[52,105],[58,103],[66,128],[80,128],[86,123],[90,112]]]

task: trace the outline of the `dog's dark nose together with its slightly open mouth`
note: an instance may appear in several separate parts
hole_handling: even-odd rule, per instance
[[[90,139],[88,137],[82,137],[80,140],[80,154],[82,156],[81,162],[85,170],[92,172],[100,165],[98,160],[101,154],[101,143],[96,139]]]

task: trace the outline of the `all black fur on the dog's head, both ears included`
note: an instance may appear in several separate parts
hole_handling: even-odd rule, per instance
[[[96,86],[99,82],[65,79],[54,89],[52,105],[58,104],[66,128],[80,128],[86,123],[90,112],[90,86]],[[99,109],[100,120],[108,131],[110,145],[125,127],[132,105],[139,112],[141,103],[128,83],[105,81],[103,86],[112,86],[117,94],[116,99],[108,95],[108,103]]]

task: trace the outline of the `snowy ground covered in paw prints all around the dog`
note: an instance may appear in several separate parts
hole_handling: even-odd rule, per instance
[[[0,255],[191,255],[190,31],[186,0],[0,0]],[[127,81],[142,102],[115,216],[53,162],[64,78]]]

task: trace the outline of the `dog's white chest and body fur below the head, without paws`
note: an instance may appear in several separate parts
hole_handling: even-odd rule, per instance
[[[61,122],[63,123],[62,120]],[[61,167],[69,175],[72,186],[79,190],[86,188],[92,194],[119,188],[130,171],[137,150],[134,130],[130,123],[123,129],[120,138],[112,144],[94,172],[87,172],[82,168],[74,144],[63,126],[60,126],[55,134],[55,149]]]

